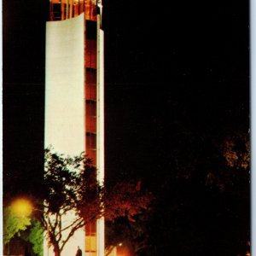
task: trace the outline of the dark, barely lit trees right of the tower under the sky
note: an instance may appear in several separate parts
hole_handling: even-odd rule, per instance
[[[245,255],[249,134],[188,131],[172,143],[166,170],[147,184],[155,199],[150,214],[138,215],[134,223],[125,218],[107,223],[108,246],[126,241],[132,255],[147,256]]]

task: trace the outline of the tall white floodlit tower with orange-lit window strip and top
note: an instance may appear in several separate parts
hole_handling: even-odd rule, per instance
[[[102,3],[50,0],[46,25],[45,147],[61,154],[85,152],[104,178],[104,67]],[[72,218],[71,216],[67,218]],[[68,221],[68,220],[67,220]],[[75,233],[62,255],[104,255],[104,220]],[[44,255],[53,255],[44,249]]]

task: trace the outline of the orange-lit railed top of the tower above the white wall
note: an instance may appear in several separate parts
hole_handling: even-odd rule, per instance
[[[97,20],[101,15],[102,1],[99,0],[50,0],[49,20],[67,20],[84,13],[85,20]]]

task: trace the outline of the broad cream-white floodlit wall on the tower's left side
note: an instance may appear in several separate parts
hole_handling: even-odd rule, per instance
[[[61,154],[84,151],[84,14],[46,25],[45,147]],[[69,212],[63,227],[74,217]],[[67,234],[64,234],[67,236]],[[84,251],[84,228],[78,230],[61,255]],[[44,255],[53,249],[44,241]]]

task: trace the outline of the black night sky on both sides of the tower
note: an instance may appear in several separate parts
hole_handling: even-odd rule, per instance
[[[154,183],[180,131],[248,125],[247,1],[168,5],[103,2],[107,177]],[[43,166],[47,19],[46,0],[3,0],[3,171],[17,193]]]

